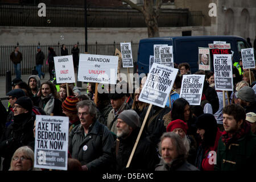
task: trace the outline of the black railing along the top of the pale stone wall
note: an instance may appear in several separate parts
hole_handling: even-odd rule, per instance
[[[0,5],[0,26],[85,27],[84,9],[46,6],[46,17],[37,6]],[[88,9],[88,27],[146,27],[144,16],[132,9]],[[162,10],[159,27],[201,26],[201,11]]]

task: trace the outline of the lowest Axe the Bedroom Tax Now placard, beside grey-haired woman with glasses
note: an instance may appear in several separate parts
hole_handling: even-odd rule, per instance
[[[68,168],[68,117],[36,115],[36,168]]]

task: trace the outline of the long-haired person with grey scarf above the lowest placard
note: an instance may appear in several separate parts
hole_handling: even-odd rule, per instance
[[[50,81],[42,83],[38,93],[38,102],[34,104],[42,108],[46,115],[64,116],[61,108],[62,103],[57,96],[56,87]]]

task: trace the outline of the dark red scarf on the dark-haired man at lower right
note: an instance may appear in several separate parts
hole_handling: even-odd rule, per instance
[[[250,130],[251,130],[250,124],[247,123],[246,121],[243,121],[240,129],[238,129],[236,133],[234,133],[233,135],[224,131],[221,138],[222,142],[227,146],[229,143],[235,142],[236,140],[245,136],[247,133],[250,132]]]

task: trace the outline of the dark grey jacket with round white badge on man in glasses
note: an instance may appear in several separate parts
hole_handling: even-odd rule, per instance
[[[82,165],[88,167],[88,171],[106,170],[111,164],[111,147],[114,137],[108,128],[96,121],[89,127],[85,136],[84,128],[77,125],[69,133],[68,150]]]

